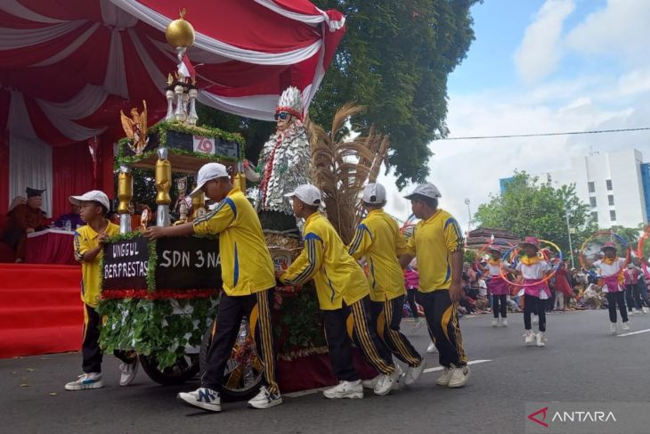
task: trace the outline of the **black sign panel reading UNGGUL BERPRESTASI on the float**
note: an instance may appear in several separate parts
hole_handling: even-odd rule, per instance
[[[146,238],[108,243],[104,246],[102,291],[146,290],[148,268]]]

